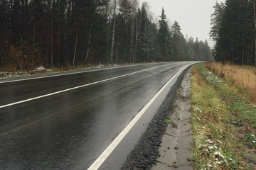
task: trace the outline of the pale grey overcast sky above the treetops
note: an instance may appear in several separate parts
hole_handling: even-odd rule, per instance
[[[193,37],[195,40],[208,40],[210,46],[210,15],[213,13],[213,6],[216,0],[140,0],[147,1],[150,11],[154,16],[161,16],[161,9],[164,7],[166,16],[171,23],[178,21],[181,26],[181,33]],[[225,2],[225,0],[217,0]],[[159,20],[159,17],[157,17]]]

